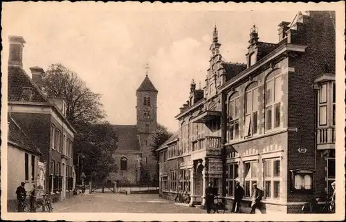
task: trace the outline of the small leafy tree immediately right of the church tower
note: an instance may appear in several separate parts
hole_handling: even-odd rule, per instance
[[[165,143],[167,139],[170,139],[172,135],[173,133],[168,131],[165,126],[158,124],[156,130],[150,136],[150,147],[156,161],[158,161],[158,152],[156,152],[156,150]]]

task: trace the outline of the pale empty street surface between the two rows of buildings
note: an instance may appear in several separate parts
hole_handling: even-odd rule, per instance
[[[206,213],[200,208],[161,199],[158,194],[85,193],[54,203],[53,208],[53,212]]]

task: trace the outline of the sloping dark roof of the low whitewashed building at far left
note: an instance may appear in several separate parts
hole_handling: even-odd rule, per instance
[[[12,143],[19,148],[41,154],[37,145],[33,143],[27,134],[20,128],[18,123],[12,117],[8,117],[9,130],[8,130],[8,143]]]

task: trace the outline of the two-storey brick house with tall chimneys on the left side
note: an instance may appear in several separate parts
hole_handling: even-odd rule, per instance
[[[32,79],[23,69],[23,37],[10,36],[8,59],[8,116],[37,145],[42,153],[39,162],[44,170],[37,172],[44,181],[38,189],[59,194],[62,199],[73,190],[73,137],[75,129],[66,119],[66,105],[63,99],[50,98],[42,91],[44,70],[30,68]],[[15,158],[15,157],[12,157]],[[16,161],[24,162],[17,157]],[[15,161],[15,160],[10,160]],[[36,166],[38,167],[38,166]],[[29,183],[27,177],[22,181]]]

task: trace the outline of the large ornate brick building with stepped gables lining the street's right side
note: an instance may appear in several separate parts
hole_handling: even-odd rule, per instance
[[[248,208],[257,183],[264,192],[262,212],[292,213],[331,192],[334,21],[334,12],[299,12],[291,23],[279,24],[277,43],[259,41],[254,26],[246,64],[224,60],[215,28],[202,97],[192,83],[190,99],[176,116],[176,152],[170,155],[167,143],[160,148],[168,152],[160,161],[160,179],[167,181],[161,183],[163,196],[188,190],[191,204],[204,205],[206,185],[213,181],[230,206],[239,181]]]

